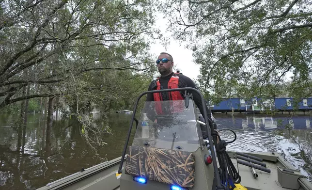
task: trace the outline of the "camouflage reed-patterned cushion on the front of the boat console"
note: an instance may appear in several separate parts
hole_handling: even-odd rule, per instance
[[[195,156],[178,150],[130,146],[125,174],[191,188],[195,179]]]

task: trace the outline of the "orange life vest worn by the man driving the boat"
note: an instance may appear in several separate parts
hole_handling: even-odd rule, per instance
[[[168,81],[168,89],[174,89],[179,88],[179,76],[180,73],[174,73],[170,80]],[[160,77],[156,79],[157,88],[156,90],[160,90]],[[181,95],[180,91],[174,91],[174,92],[168,92],[169,93],[169,100],[184,100],[184,97]],[[161,103],[157,101],[163,101],[162,96],[160,93],[154,93],[154,101],[156,106],[156,112],[158,115],[163,114]],[[184,110],[184,104],[181,104],[181,102],[172,101],[170,106],[170,112],[176,113],[176,112],[182,112]]]

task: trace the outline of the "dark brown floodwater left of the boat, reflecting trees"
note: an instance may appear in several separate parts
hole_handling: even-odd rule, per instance
[[[103,160],[120,157],[130,115],[107,120],[113,135],[103,136],[108,145],[100,158],[81,137],[75,120],[54,120],[52,126],[40,114],[28,115],[27,127],[15,129],[14,117],[0,117],[0,189],[37,189]]]

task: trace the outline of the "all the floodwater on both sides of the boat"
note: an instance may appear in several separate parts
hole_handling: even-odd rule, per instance
[[[227,145],[227,150],[278,152],[311,181],[312,117],[214,116],[218,129],[229,128],[236,132],[237,139]],[[52,127],[48,127],[41,114],[29,114],[27,126],[18,129],[11,127],[17,116],[0,115],[0,190],[37,189],[82,168],[120,157],[131,115],[111,114],[99,119],[103,122],[101,125],[112,129],[112,135],[102,136],[108,144],[97,151],[99,156],[95,156],[81,136],[81,128],[75,120],[54,119]],[[221,131],[220,135],[226,141],[234,138],[229,131]]]

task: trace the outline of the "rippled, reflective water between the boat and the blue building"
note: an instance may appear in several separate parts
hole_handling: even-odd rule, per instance
[[[293,116],[286,118],[235,116],[218,117],[219,129],[234,129],[237,139],[227,145],[227,150],[240,152],[278,152],[296,169],[312,181],[312,117]],[[285,126],[291,126],[287,130]],[[221,131],[221,139],[232,141],[230,131]]]

